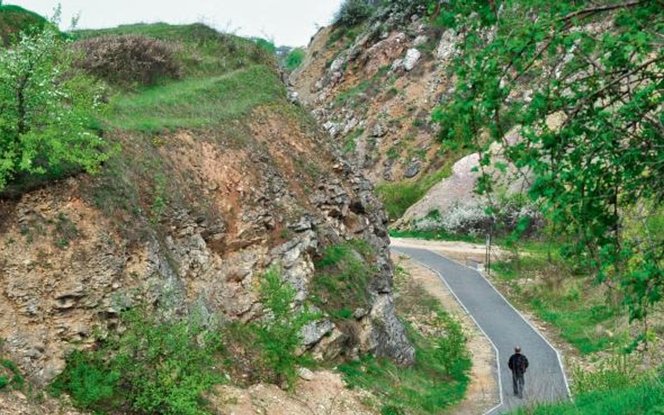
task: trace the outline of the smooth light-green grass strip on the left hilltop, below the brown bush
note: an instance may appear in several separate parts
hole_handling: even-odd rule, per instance
[[[277,75],[266,66],[255,65],[120,96],[113,102],[109,123],[139,132],[219,125],[283,96]]]

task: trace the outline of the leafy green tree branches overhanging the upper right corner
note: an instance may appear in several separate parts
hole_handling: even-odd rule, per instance
[[[483,3],[448,3],[438,16],[469,33],[455,96],[434,114],[443,141],[482,152],[478,191],[491,195],[486,133],[503,141],[520,125],[523,141],[504,142],[506,156],[534,174],[530,197],[574,236],[565,252],[620,286],[632,318],[646,318],[664,295],[664,234],[647,225],[664,196],[661,5]],[[610,29],[588,28],[604,21]],[[481,33],[494,24],[487,41]],[[525,88],[532,99],[509,99]]]

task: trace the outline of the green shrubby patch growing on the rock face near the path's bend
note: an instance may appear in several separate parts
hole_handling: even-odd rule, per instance
[[[328,246],[315,264],[314,303],[338,320],[349,318],[355,309],[368,309],[368,286],[375,274],[372,255],[371,247],[359,241]]]

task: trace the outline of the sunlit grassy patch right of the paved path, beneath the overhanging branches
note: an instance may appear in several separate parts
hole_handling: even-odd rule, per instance
[[[509,286],[513,300],[558,328],[581,353],[625,346],[623,306],[618,300],[607,302],[610,293],[560,258],[558,248],[531,242],[519,260],[497,262],[492,271]]]

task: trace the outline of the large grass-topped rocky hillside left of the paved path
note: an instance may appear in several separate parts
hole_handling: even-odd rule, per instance
[[[104,367],[129,341],[118,328],[156,333],[188,321],[189,332],[199,318],[223,329],[232,351],[224,371],[237,386],[285,388],[303,352],[327,362],[371,353],[413,363],[394,311],[387,216],[371,183],[286,100],[269,51],[202,24],[71,37],[83,52],[76,65],[108,103],[91,125],[106,141],[105,156],[95,174],[65,165],[49,173],[55,180],[8,176],[0,199],[0,337],[4,358],[23,377],[38,388],[55,381],[55,391],[83,409],[143,405],[118,390],[112,400],[124,403],[114,407],[85,389],[97,381],[83,390],[71,382],[88,381],[81,370],[113,376]],[[275,275],[285,283],[266,292]],[[277,330],[261,323],[278,312],[266,308],[277,307],[271,299],[291,294],[295,308],[288,300],[282,310],[289,329],[261,337]],[[303,307],[314,314],[297,320]],[[130,317],[136,312],[141,323]],[[297,339],[300,328],[303,350],[293,349],[299,342],[270,346],[286,341],[279,336]],[[181,339],[186,345],[175,346],[198,337]],[[198,387],[216,379],[200,378],[211,370],[191,374]]]

